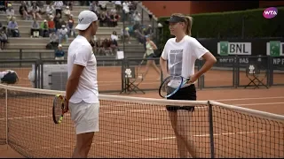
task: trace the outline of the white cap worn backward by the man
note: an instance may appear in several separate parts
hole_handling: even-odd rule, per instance
[[[93,11],[81,11],[78,16],[78,25],[75,29],[86,30],[93,21],[97,21],[98,17]]]

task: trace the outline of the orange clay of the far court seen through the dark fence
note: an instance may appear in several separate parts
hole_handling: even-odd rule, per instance
[[[0,69],[4,71],[5,69]],[[32,87],[30,81],[28,80],[28,72],[31,68],[12,68],[16,71],[20,77],[19,83],[16,86],[20,87]],[[141,67],[142,72],[145,70],[145,66]],[[195,71],[197,71],[195,69]],[[122,68],[121,66],[103,66],[98,67],[98,82],[99,90],[121,90],[122,89]],[[157,79],[158,74],[150,69],[144,81],[139,85],[141,89],[154,89],[158,88],[160,81]],[[222,78],[220,78],[222,77]],[[262,79],[261,77],[260,79]],[[218,80],[216,80],[218,79]],[[273,72],[273,83],[284,84],[284,73],[283,72]],[[266,83],[266,78],[263,80]],[[249,79],[246,77],[246,72],[240,72],[240,85],[244,86],[249,83]],[[204,78],[205,87],[233,87],[233,71],[232,70],[217,70],[212,69],[206,73]]]

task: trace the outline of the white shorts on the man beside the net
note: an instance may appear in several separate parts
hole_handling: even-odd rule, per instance
[[[99,103],[69,102],[76,134],[99,132]]]

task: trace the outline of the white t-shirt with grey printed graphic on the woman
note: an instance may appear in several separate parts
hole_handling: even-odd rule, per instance
[[[188,78],[194,74],[196,59],[200,59],[208,49],[205,49],[195,38],[185,35],[180,41],[170,38],[166,43],[162,58],[168,60],[170,75],[183,76]]]

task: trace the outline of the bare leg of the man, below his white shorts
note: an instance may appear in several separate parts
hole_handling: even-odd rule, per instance
[[[81,133],[76,135],[76,147],[72,158],[87,158],[91,148],[94,133]]]

